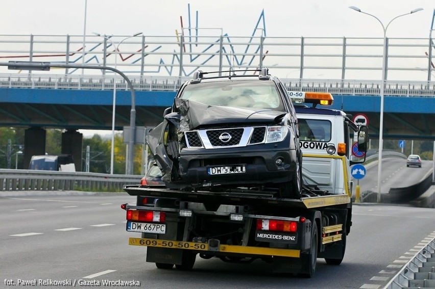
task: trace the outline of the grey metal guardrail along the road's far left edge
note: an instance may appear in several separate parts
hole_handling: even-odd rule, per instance
[[[122,192],[124,185],[137,185],[141,178],[139,175],[0,169],[0,192]]]

